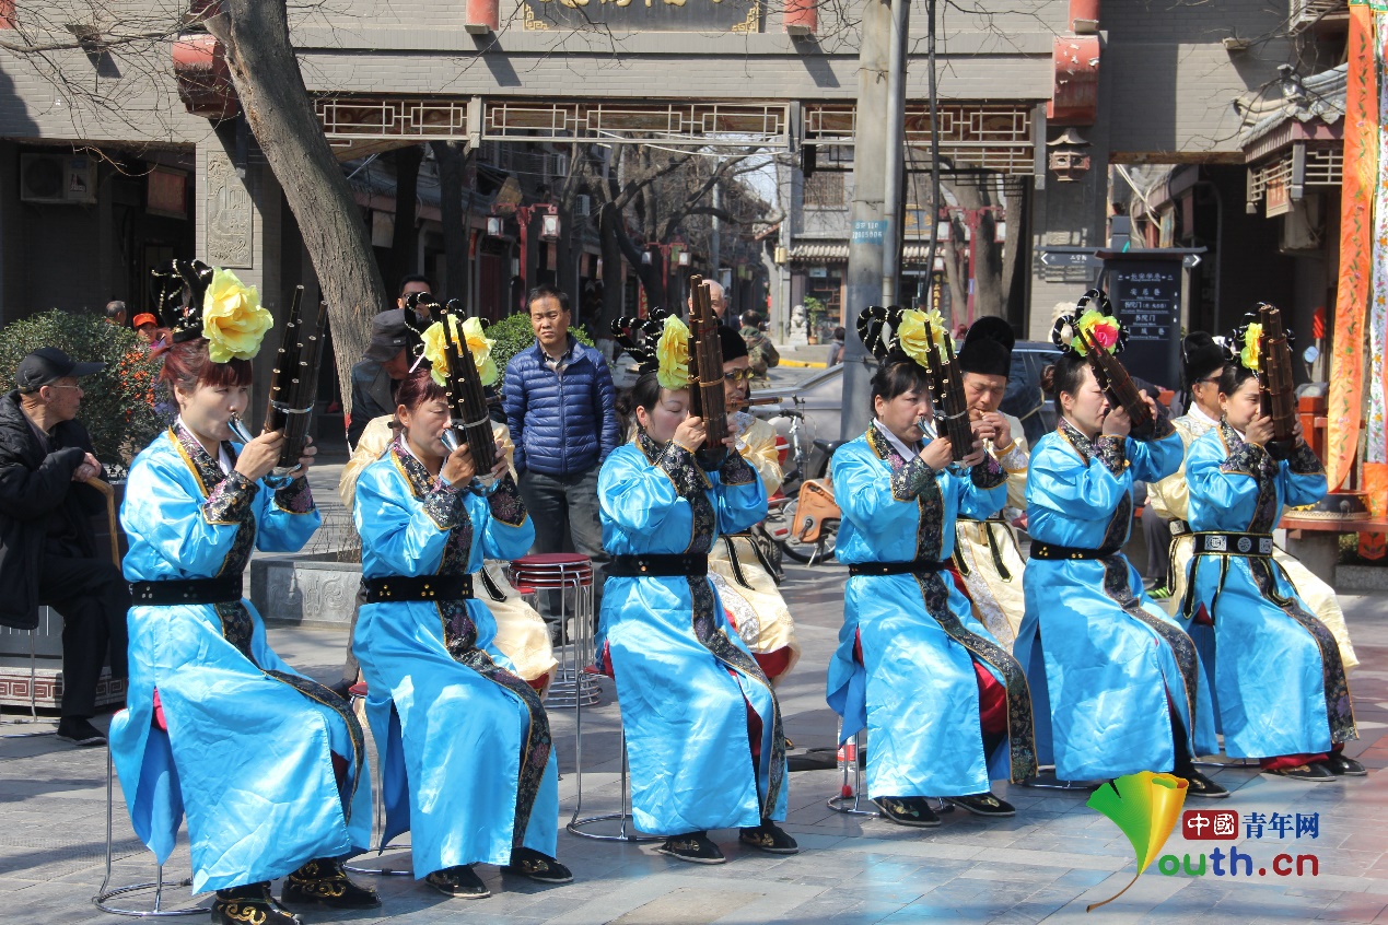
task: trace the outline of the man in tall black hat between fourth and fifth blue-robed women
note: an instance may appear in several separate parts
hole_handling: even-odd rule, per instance
[[[1015,345],[1010,325],[1001,318],[980,318],[959,348],[959,370],[963,373],[970,417],[981,419],[997,434],[984,442],[984,448],[1008,473],[1008,506],[1026,510],[1027,438],[1022,422],[999,410],[1008,391]],[[1026,612],[1022,595],[1024,563],[1012,524],[1002,515],[988,520],[969,520],[960,515],[955,521],[954,567],[983,624],[1010,649]]]

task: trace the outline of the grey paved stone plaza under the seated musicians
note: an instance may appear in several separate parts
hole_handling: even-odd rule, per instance
[[[781,688],[794,754],[833,743],[834,717],[824,706],[823,684],[841,621],[844,578],[845,570],[838,566],[788,570],[784,591],[805,649]],[[1127,839],[1113,822],[1085,807],[1085,790],[1002,786],[998,792],[1017,806],[1016,818],[985,822],[955,810],[945,815],[944,827],[922,831],[831,811],[824,800],[838,792],[838,772],[808,770],[794,772],[790,784],[786,828],[802,847],[795,857],[744,850],[736,832],[716,832],[729,863],[700,867],[655,854],[650,845],[593,842],[561,829],[559,857],[576,876],[569,886],[541,888],[483,867],[493,896],[464,901],[448,900],[408,876],[365,878],[380,888],[380,910],[344,915],[305,910],[304,919],[398,925],[458,917],[526,925],[927,919],[1015,925],[1069,919],[1099,925],[1196,917],[1202,925],[1317,918],[1388,922],[1388,598],[1344,598],[1344,603],[1363,663],[1351,678],[1363,738],[1351,743],[1348,753],[1371,768],[1370,777],[1306,785],[1239,767],[1214,771],[1234,796],[1196,809],[1238,811],[1237,840],[1183,842],[1177,829],[1163,853],[1191,854],[1195,865],[1199,851],[1213,858],[1219,847],[1223,876],[1214,874],[1213,863],[1203,876],[1163,876],[1153,864],[1122,899],[1085,914],[1088,903],[1116,893],[1134,871]],[[271,639],[291,664],[319,680],[337,677],[343,631],[273,628]],[[1276,671],[1277,666],[1267,670]],[[609,811],[619,803],[618,710],[611,685],[604,684],[601,706],[583,716],[589,771],[584,814]],[[566,710],[555,710],[551,717],[566,822],[575,804],[575,721]],[[0,732],[24,731],[0,727]],[[0,901],[6,921],[118,921],[92,906],[103,878],[105,768],[105,749],[74,749],[51,736],[0,739]],[[1253,813],[1269,821],[1262,838],[1248,838],[1246,822],[1256,821]],[[1317,836],[1303,833],[1298,839],[1287,831],[1278,839],[1278,814],[1319,814]],[[112,882],[151,879],[153,861],[135,840],[118,790],[114,839]],[[1230,875],[1231,846],[1252,858],[1252,876],[1242,867],[1238,875]],[[1302,876],[1277,876],[1274,860],[1284,851],[1314,854],[1319,875],[1306,868]],[[387,853],[382,860],[408,867],[408,853]],[[1266,875],[1259,876],[1259,868]],[[189,875],[186,846],[167,870],[172,881]],[[171,886],[165,900],[186,903],[187,889]],[[200,914],[182,921],[204,918]]]

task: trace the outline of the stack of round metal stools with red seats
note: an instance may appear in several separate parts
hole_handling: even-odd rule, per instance
[[[559,596],[559,645],[550,685],[548,707],[594,706],[601,695],[597,678],[583,668],[593,664],[593,560],[573,553],[543,553],[515,559],[511,585],[555,591]],[[570,628],[572,624],[572,628]]]

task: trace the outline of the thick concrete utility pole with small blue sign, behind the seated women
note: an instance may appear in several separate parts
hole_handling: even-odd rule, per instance
[[[899,1],[899,0],[898,0]],[[848,286],[844,304],[844,404],[840,438],[852,440],[872,419],[872,366],[858,337],[858,312],[881,304],[886,222],[887,75],[891,58],[891,3],[863,0],[858,50],[858,114],[854,125],[854,201],[849,212]]]

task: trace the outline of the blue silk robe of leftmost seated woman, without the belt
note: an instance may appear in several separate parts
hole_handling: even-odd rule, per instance
[[[225,448],[235,459],[239,445]],[[225,474],[180,423],[130,466],[130,581],[240,574],[251,549],[296,552],[321,517],[307,480]],[[135,832],[160,863],[187,814],[193,889],[283,876],[371,839],[364,736],[336,693],[285,664],[248,600],[130,607],[128,709],[111,757]],[[154,727],[158,689],[168,731]],[[347,760],[343,786],[333,754]]]

